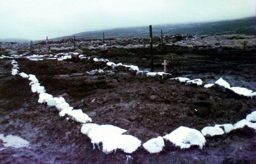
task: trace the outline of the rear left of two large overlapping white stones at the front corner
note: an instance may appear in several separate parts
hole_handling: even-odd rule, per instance
[[[113,125],[100,125],[93,127],[87,135],[91,139],[92,144],[99,145],[100,142],[114,138],[124,132],[126,132],[125,129]]]

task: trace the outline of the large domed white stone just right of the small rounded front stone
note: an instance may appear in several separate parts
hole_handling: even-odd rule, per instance
[[[180,146],[180,149],[189,148],[192,145],[198,145],[202,149],[206,142],[201,132],[184,126],[180,126],[163,138],[176,146]]]

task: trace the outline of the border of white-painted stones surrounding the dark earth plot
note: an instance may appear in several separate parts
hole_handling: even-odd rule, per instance
[[[1,59],[3,59],[3,58],[12,59],[12,58],[20,58],[20,57],[22,57],[22,55],[21,56],[17,55],[15,57],[6,57],[6,56],[3,57],[2,56],[0,58]],[[80,56],[79,56],[79,58],[80,58]],[[81,56],[81,58],[85,59],[86,57]],[[80,59],[80,60],[82,60],[82,59]],[[95,62],[104,61],[105,63],[107,62],[107,66],[112,67],[113,69],[119,66],[120,69],[124,70],[124,71],[127,71],[127,69],[128,69],[128,71],[131,71],[132,73],[136,73],[139,71],[139,68],[137,66],[133,66],[133,65],[128,66],[128,65],[123,65],[122,63],[115,64],[113,62],[109,62],[108,60],[104,60],[104,59],[99,60],[97,58],[94,58],[93,61],[95,61]],[[18,68],[17,61],[12,60],[12,65],[13,65],[12,75],[18,74],[19,68]],[[142,74],[143,74],[143,72],[142,72]],[[147,73],[147,76],[151,76],[151,74],[153,74],[153,73],[151,73],[150,75],[149,74],[150,73]],[[157,74],[158,73],[154,73],[154,76]],[[161,75],[161,74],[163,74],[163,73],[162,72],[159,73],[159,75]],[[38,80],[36,79],[35,75],[27,75],[23,72],[20,73],[19,75],[23,78],[28,78],[31,81],[30,85],[31,85],[32,92],[37,92],[38,94],[41,95],[41,97],[39,95],[39,100],[41,98],[41,99],[43,99],[43,102],[47,102],[47,103],[49,102],[49,104],[51,104],[52,101],[53,102],[55,101],[55,103],[58,101],[57,97],[54,97],[55,98],[55,100],[54,100],[52,95],[45,93],[44,87],[40,86],[40,83],[38,83]],[[201,79],[190,80],[188,78],[182,78],[182,77],[173,78],[173,79],[176,79],[179,82],[188,82],[188,84],[195,83],[195,84],[197,84],[197,86],[202,85]],[[204,87],[211,88],[215,85],[223,88],[224,91],[226,89],[232,90],[232,91],[234,91],[234,93],[236,93],[237,95],[240,95],[240,96],[242,95],[242,96],[247,96],[247,97],[251,97],[251,98],[256,96],[256,92],[252,92],[251,90],[248,90],[245,88],[235,87],[235,89],[232,89],[233,87],[230,87],[230,85],[226,81],[224,81],[222,78],[217,80],[215,82],[215,84],[206,84]],[[42,100],[41,101],[39,101],[39,100],[38,100],[38,102],[42,101]],[[73,107],[69,107],[68,103],[66,103],[65,100],[64,100],[64,102],[56,103],[55,106],[60,111],[59,115],[61,117],[67,115],[67,116],[71,117],[71,119],[73,121],[76,121],[76,122],[81,122],[81,123],[92,122],[92,119],[89,118],[86,114],[84,114],[82,112],[82,110],[73,110]],[[164,144],[164,139],[165,139],[165,140],[169,140],[170,142],[172,142],[175,146],[179,146],[181,149],[189,148],[190,146],[193,146],[193,145],[198,145],[199,148],[202,148],[206,142],[204,136],[212,137],[212,136],[216,136],[216,135],[223,135],[224,132],[229,133],[233,130],[244,128],[244,126],[248,126],[256,131],[256,123],[252,123],[252,122],[256,122],[256,111],[253,111],[251,114],[247,115],[246,119],[238,121],[235,125],[223,124],[223,125],[215,125],[214,127],[207,126],[207,127],[204,127],[201,130],[201,132],[197,131],[196,129],[191,129],[188,127],[180,126],[179,128],[177,128],[176,130],[172,131],[170,134],[167,134],[164,137],[159,136],[157,138],[149,139],[147,142],[145,142],[143,144],[143,147],[149,153],[159,153],[163,150],[163,147],[165,146],[165,144]],[[107,126],[107,128],[106,128],[106,126]],[[222,130],[222,128],[224,129],[224,131]],[[102,129],[107,129],[107,131],[102,132]],[[115,133],[116,131],[119,131],[119,132]],[[93,147],[95,147],[94,144],[99,146],[99,143],[102,142],[102,144],[103,144],[102,151],[107,154],[111,153],[113,151],[116,151],[116,149],[121,149],[125,153],[132,153],[132,152],[136,151],[138,149],[138,147],[141,145],[141,141],[139,139],[137,139],[136,137],[131,136],[131,135],[123,135],[122,133],[126,132],[126,130],[120,129],[113,125],[83,124],[83,126],[81,128],[81,132],[83,134],[86,134],[92,140]],[[106,137],[106,135],[109,135],[109,134],[111,134],[110,137],[109,138]],[[95,139],[98,139],[98,142],[97,141],[95,142],[94,141]],[[113,145],[115,145],[115,146],[113,146]]]

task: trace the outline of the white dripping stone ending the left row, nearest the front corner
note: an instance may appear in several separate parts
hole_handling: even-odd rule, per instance
[[[90,118],[87,114],[83,113],[81,109],[68,111],[66,113],[68,114],[68,117],[71,118],[73,121],[80,123],[92,122],[92,118]]]

